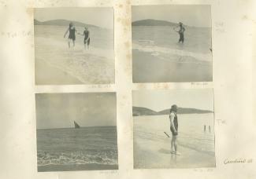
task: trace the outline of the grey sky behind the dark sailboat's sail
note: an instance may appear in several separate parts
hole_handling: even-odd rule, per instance
[[[35,94],[36,128],[116,126],[115,93]]]

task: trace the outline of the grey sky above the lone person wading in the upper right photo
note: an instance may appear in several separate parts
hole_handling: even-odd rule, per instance
[[[135,5],[132,22],[136,20],[167,20],[193,27],[211,27],[210,5]]]

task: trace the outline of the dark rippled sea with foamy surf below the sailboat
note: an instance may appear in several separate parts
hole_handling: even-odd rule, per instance
[[[37,130],[38,166],[117,166],[117,127]],[[86,169],[85,169],[86,170]]]

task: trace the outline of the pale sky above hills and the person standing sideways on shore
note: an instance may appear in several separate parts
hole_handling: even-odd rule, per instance
[[[169,89],[132,91],[132,105],[161,111],[176,104],[180,108],[213,111],[212,89]]]

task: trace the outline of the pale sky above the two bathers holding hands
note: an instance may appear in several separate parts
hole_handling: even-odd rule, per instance
[[[35,8],[34,18],[39,21],[64,19],[113,29],[113,8]]]

